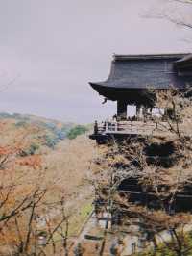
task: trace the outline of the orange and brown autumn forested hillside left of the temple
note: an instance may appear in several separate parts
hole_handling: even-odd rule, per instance
[[[54,255],[53,243],[66,249],[67,231],[68,248],[92,209],[87,127],[1,113],[0,129],[0,255],[38,255],[42,234]]]

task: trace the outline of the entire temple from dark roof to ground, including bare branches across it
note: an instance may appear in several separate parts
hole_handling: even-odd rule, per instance
[[[184,103],[192,103],[192,54],[114,55],[108,79],[90,86],[104,97],[103,103],[117,102],[117,109],[102,123],[95,121],[90,135],[98,144],[107,143],[107,150],[96,160],[100,182],[94,186],[94,214],[84,244],[95,249],[90,255],[117,255],[111,253],[117,247],[118,255],[135,255],[155,244],[156,218],[151,227],[149,216],[192,214],[191,159],[183,149],[183,143],[192,141],[191,116],[186,122],[173,104],[159,107],[156,93],[171,99],[181,95]],[[182,111],[188,107],[184,103]],[[160,236],[165,232],[167,237],[169,229],[156,226]]]

